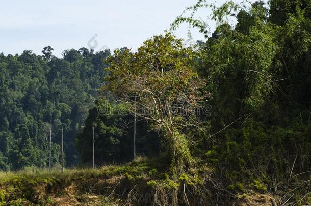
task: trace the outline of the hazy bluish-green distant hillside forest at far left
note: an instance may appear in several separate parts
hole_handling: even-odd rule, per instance
[[[61,125],[65,160],[79,163],[75,136],[95,104],[109,50],[66,50],[63,58],[47,46],[43,55],[25,50],[21,55],[0,54],[0,167],[16,170],[45,167],[49,155],[52,114],[52,163],[60,160]]]

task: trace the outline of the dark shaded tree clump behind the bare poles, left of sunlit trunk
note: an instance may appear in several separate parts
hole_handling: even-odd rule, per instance
[[[133,159],[133,116],[125,104],[111,104],[98,98],[96,106],[89,111],[85,126],[76,137],[77,150],[83,163],[92,162],[92,145],[95,133],[95,163],[108,164]],[[137,154],[158,153],[158,134],[148,128],[146,121],[137,122]]]

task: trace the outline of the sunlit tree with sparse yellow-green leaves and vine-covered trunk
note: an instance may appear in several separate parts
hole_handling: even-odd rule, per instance
[[[107,84],[132,112],[152,122],[169,145],[171,171],[180,173],[193,162],[187,131],[201,128],[195,109],[210,94],[194,68],[196,53],[170,34],[154,36],[138,52],[116,50],[109,58]]]

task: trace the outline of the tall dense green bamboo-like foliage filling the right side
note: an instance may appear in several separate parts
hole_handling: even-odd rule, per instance
[[[304,185],[311,151],[308,2],[271,0],[266,8],[262,1],[220,7],[199,1],[188,8],[212,8],[210,19],[218,23],[212,36],[199,42],[197,67],[209,79],[208,104],[215,113],[211,135],[201,139],[200,157],[231,190],[299,185],[306,194],[310,189]],[[177,19],[173,28],[190,23],[187,18]],[[229,18],[237,24],[230,25]],[[300,173],[306,175],[293,179]],[[291,198],[285,195],[284,201]]]

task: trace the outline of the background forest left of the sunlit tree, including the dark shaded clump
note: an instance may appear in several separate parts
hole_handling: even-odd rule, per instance
[[[100,105],[109,107],[109,104],[96,99],[102,94],[100,87],[108,65],[105,60],[110,51],[94,53],[87,48],[71,49],[64,51],[60,59],[53,56],[53,48],[47,46],[42,53],[36,55],[25,50],[21,55],[0,55],[1,169],[43,168],[48,165],[50,114],[52,166],[59,165],[61,160],[62,125],[65,165],[72,167],[89,162],[92,131],[86,132],[85,129],[76,136],[84,128],[89,110],[96,105],[86,122],[89,125],[98,119],[96,163],[132,160],[133,118],[130,114],[125,118],[118,113],[105,116],[98,112]],[[157,134],[147,133],[148,127],[144,122],[138,121],[137,127],[137,153],[157,153]]]

